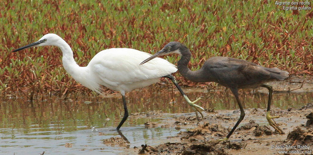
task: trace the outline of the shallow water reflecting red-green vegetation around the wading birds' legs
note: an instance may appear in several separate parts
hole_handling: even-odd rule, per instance
[[[204,96],[198,102],[203,108],[215,110],[239,108],[229,90],[210,92],[207,89],[184,89],[184,91],[191,100]],[[240,90],[239,93],[244,108],[267,107],[267,93],[252,90]],[[124,113],[121,95],[89,97],[76,94],[69,98],[64,100],[46,96],[43,101],[33,102],[24,97],[3,100],[0,109],[2,138],[0,154],[40,154],[43,151],[45,154],[120,153],[119,149],[123,147],[105,145],[103,140],[121,137],[118,132],[110,131],[115,129]],[[129,141],[130,148],[140,147],[145,143],[149,145],[164,143],[162,139],[188,130],[184,127],[175,129],[144,126],[147,121],[162,122],[162,119],[177,113],[193,114],[176,90],[151,91],[151,87],[148,87],[127,93],[126,100],[129,113],[160,110],[164,113],[157,118],[153,115],[149,117],[130,115],[121,127],[121,133]],[[297,109],[312,101],[313,93],[275,93],[272,107]],[[96,127],[105,135],[92,132],[91,127]],[[65,143],[72,143],[72,147],[65,147]]]

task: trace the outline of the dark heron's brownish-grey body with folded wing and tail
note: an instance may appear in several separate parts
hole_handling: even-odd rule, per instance
[[[234,88],[249,88],[250,85],[253,88],[266,80],[285,77],[285,71],[282,72],[278,68],[265,68],[245,60],[227,57],[212,57],[205,62],[204,67],[215,82]]]

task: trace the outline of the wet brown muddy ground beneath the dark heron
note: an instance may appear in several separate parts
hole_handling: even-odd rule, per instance
[[[279,151],[311,154],[313,149],[313,103],[300,109],[281,110],[272,107],[272,116],[285,134],[280,135],[268,125],[266,109],[245,109],[245,118],[227,141],[216,141],[225,138],[228,131],[237,122],[239,110],[210,111],[204,118],[197,120],[194,113],[176,115],[161,123],[145,123],[146,128],[191,128],[174,137],[167,137],[160,145],[146,146],[146,154],[278,154]],[[134,113],[130,117],[161,117],[162,112]],[[140,131],[139,131],[140,132]],[[125,139],[125,138],[124,138]],[[125,147],[123,154],[138,154],[142,146],[132,146],[123,137],[105,139],[105,145]],[[271,148],[273,147],[274,148]],[[298,148],[308,147],[310,148]],[[283,148],[285,147],[285,148]],[[289,148],[286,148],[289,147]],[[148,151],[147,151],[148,150]],[[294,151],[294,152],[290,152]],[[298,151],[298,152],[295,152]],[[304,151],[304,152],[301,152]],[[305,152],[306,151],[306,152]]]

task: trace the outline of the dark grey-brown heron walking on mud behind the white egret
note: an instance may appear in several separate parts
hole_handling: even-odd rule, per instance
[[[222,86],[230,88],[233,92],[240,108],[240,117],[235,126],[223,140],[227,140],[237,128],[239,123],[244,119],[245,113],[238,97],[238,89],[257,88],[259,86],[265,87],[269,90],[269,100],[266,112],[266,119],[269,122],[269,125],[280,134],[284,134],[284,132],[273,120],[273,118],[279,118],[279,116],[270,115],[273,88],[272,86],[264,83],[271,80],[285,80],[289,77],[288,72],[282,71],[278,68],[265,68],[245,60],[228,57],[209,58],[204,62],[202,68],[198,71],[191,71],[187,67],[188,62],[190,61],[191,53],[185,45],[179,42],[168,43],[162,48],[161,51],[147,58],[141,62],[140,65],[158,56],[172,53],[181,55],[181,59],[178,61],[177,67],[183,77],[193,82],[216,82]]]

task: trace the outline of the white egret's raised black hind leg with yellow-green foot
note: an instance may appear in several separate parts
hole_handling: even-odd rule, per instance
[[[185,98],[185,100],[187,101],[187,103],[192,107],[192,109],[195,111],[197,117],[198,117],[198,113],[197,111],[201,114],[202,118],[203,118],[203,114],[201,113],[201,111],[198,109],[200,108],[201,110],[205,111],[204,108],[198,106],[197,104],[194,104],[196,102],[198,102],[201,98],[203,98],[203,96],[201,96],[200,98],[196,99],[195,101],[191,102],[190,99],[187,97],[187,95],[182,91],[182,88],[179,87],[179,85],[176,82],[176,79],[172,76],[172,75],[166,75],[163,76],[164,78],[169,78],[170,80],[172,80],[172,82],[175,84],[176,88],[179,90],[179,92],[182,94],[182,96]]]

